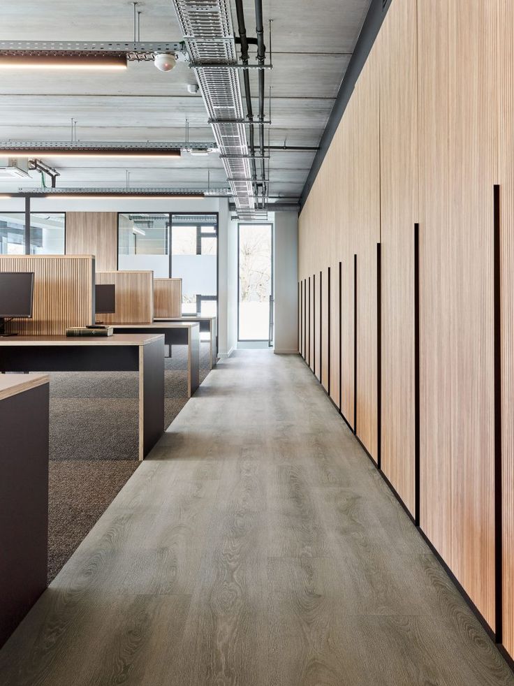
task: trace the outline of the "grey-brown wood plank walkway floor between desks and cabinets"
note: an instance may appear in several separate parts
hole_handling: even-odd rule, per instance
[[[3,647],[0,684],[514,676],[302,360],[241,351]]]

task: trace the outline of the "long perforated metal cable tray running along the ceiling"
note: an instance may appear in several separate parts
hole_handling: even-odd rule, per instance
[[[237,210],[253,210],[254,189],[240,82],[235,69],[206,64],[237,64],[229,0],[172,0],[184,43],[196,72],[214,139]],[[239,156],[239,157],[237,157]]]

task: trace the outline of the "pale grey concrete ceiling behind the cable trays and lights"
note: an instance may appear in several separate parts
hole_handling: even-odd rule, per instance
[[[274,64],[272,70],[265,72],[266,117],[272,87],[272,126],[265,128],[266,143],[269,129],[271,145],[317,147],[368,8],[369,0],[263,1],[268,48],[267,22],[272,20]],[[138,9],[142,41],[182,39],[170,0],[142,0]],[[244,0],[244,10],[247,34],[254,36],[254,0]],[[0,40],[132,41],[133,3],[3,3]],[[255,51],[251,46],[252,56]],[[161,73],[153,64],[136,63],[129,63],[123,73],[4,72],[0,80],[0,139],[70,140],[73,117],[78,122],[77,137],[83,141],[181,143],[187,118],[190,140],[212,142],[201,96],[187,92],[187,85],[194,82],[193,71],[184,64],[177,65],[171,73]],[[250,82],[255,114],[256,72],[251,72]],[[266,161],[266,168],[270,169],[270,195],[298,198],[314,154],[315,151],[272,151]],[[226,184],[216,154],[208,158],[183,157],[172,163],[78,163],[51,157],[45,161],[61,172],[61,186],[124,186],[126,170],[131,173],[131,183],[140,186],[186,183],[191,188],[200,187],[206,184],[207,173],[212,183]],[[34,186],[40,182],[39,176],[34,175],[28,183]]]

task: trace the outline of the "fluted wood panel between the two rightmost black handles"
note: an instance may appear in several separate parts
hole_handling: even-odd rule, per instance
[[[418,1],[420,525],[493,629],[497,18]]]

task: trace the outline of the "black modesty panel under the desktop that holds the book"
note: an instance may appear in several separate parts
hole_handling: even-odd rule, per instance
[[[2,372],[137,372],[138,346],[2,346]]]

